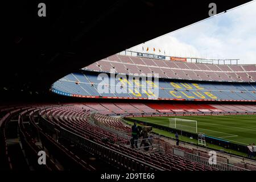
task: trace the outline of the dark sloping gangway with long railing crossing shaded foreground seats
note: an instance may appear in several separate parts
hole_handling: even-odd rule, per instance
[[[49,129],[50,131],[52,131],[52,125],[48,125],[49,122],[46,119],[42,117],[40,118],[41,119],[39,119],[39,123],[43,124],[44,129]],[[102,144],[81,137],[80,135],[77,135],[72,131],[68,131],[63,127],[60,127],[59,131],[61,138],[67,139],[69,142],[76,144],[76,146],[79,146],[90,154],[98,156],[100,159],[109,162],[112,165],[118,167],[126,166],[126,168],[130,170],[135,168],[135,171],[164,171],[163,168],[153,166],[139,159],[112,150],[112,148],[103,146]]]

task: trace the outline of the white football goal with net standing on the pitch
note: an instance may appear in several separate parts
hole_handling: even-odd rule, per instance
[[[197,133],[197,121],[181,118],[169,118],[169,127],[181,131]]]

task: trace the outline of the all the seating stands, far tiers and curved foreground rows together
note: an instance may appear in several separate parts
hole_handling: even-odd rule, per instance
[[[121,77],[108,77],[110,68]],[[94,171],[106,168],[136,171],[138,169],[171,171],[213,171],[218,169],[246,170],[241,163],[226,164],[226,158],[216,167],[202,163],[208,160],[205,151],[175,146],[166,138],[153,136],[157,152],[146,152],[130,148],[130,126],[120,119],[136,116],[161,115],[213,115],[213,114],[256,114],[253,104],[210,104],[209,101],[256,101],[255,65],[211,65],[179,63],[141,57],[113,55],[89,65],[85,71],[71,73],[52,85],[52,92],[63,96],[80,98],[126,98],[174,100],[163,102],[83,102],[72,104],[13,105],[0,107],[1,169],[39,169]],[[96,72],[105,73],[98,76]],[[129,80],[126,74],[159,73],[159,82],[150,85],[158,90],[144,90],[148,81]],[[105,78],[105,76],[107,76]],[[104,77],[104,79],[103,79]],[[170,79],[172,78],[172,79]],[[174,80],[179,79],[179,81]],[[193,80],[193,81],[192,81]],[[198,81],[207,80],[207,81]],[[212,82],[226,81],[226,82]],[[130,92],[116,92],[120,90]],[[139,87],[142,86],[142,87]],[[104,92],[100,92],[100,90]],[[182,100],[182,103],[175,102]],[[185,103],[189,100],[189,103]],[[193,102],[191,102],[193,101]],[[208,101],[207,104],[194,101]],[[119,116],[119,117],[118,117]],[[11,121],[17,121],[20,142],[16,149],[11,147]],[[17,131],[17,130],[16,130]],[[12,131],[13,133],[13,131]],[[15,132],[14,132],[15,133]],[[15,134],[16,137],[18,134]],[[71,147],[74,146],[74,147]],[[89,147],[90,146],[90,147]],[[35,163],[38,151],[47,151],[46,166]],[[154,147],[152,147],[154,148]],[[161,152],[162,148],[165,152]],[[25,154],[23,155],[23,151]],[[18,157],[13,155],[18,151]],[[177,154],[183,154],[183,156]],[[195,155],[196,161],[185,158]],[[198,155],[200,154],[200,156]],[[98,156],[100,164],[88,160]],[[56,161],[53,162],[53,159]],[[27,162],[26,162],[27,161]],[[102,166],[101,166],[102,167]],[[101,168],[100,167],[100,168]],[[247,169],[254,169],[248,164]]]

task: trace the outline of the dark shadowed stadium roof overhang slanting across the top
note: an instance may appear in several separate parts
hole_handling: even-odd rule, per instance
[[[211,2],[47,1],[46,17],[38,17],[38,1],[15,2],[6,6],[1,89],[46,91],[94,61],[208,18]],[[214,2],[220,13],[249,1]]]

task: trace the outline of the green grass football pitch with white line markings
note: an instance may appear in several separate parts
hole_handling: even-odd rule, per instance
[[[139,121],[170,126],[169,118],[197,121],[197,132],[238,144],[256,143],[256,115],[211,115],[175,117],[138,117]]]

